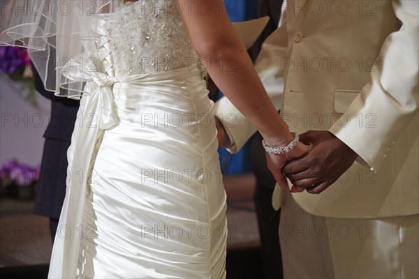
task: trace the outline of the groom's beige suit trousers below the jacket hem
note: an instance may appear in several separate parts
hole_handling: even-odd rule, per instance
[[[284,278],[419,278],[418,228],[418,214],[314,216],[284,193],[279,225]]]

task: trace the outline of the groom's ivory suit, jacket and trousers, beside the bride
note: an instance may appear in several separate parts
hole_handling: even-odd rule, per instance
[[[290,207],[296,211],[309,213],[309,219],[325,217],[321,217],[322,224],[330,224],[330,220],[346,220],[341,224],[348,224],[348,220],[369,220],[367,224],[372,224],[377,239],[383,228],[374,220],[390,220],[392,223],[392,218],[411,216],[408,227],[416,229],[416,236],[413,235],[416,242],[407,245],[416,246],[413,252],[409,251],[413,253],[409,257],[416,260],[416,269],[419,213],[418,9],[418,1],[409,0],[287,1],[279,28],[265,40],[256,61],[265,89],[274,105],[281,109],[281,115],[291,130],[297,133],[329,130],[358,153],[352,167],[321,195],[304,192],[291,197],[284,193],[283,214],[294,212],[287,211],[287,206],[293,204]],[[256,129],[226,98],[216,103],[216,109],[230,137],[227,147],[235,152]],[[281,225],[287,220],[281,216]],[[294,217],[294,220],[304,222],[306,219]],[[364,224],[362,222],[357,224]],[[394,222],[399,223],[399,220]],[[286,228],[289,232],[289,227]],[[284,227],[280,228],[283,249],[288,242],[298,240],[294,235],[291,241],[284,243],[286,235],[281,229]],[[359,229],[365,231],[365,227]],[[355,233],[352,231],[352,234]],[[397,234],[395,238],[402,239],[403,236]],[[358,241],[360,239],[365,241],[361,235]],[[311,240],[316,241],[316,237]],[[383,245],[387,244],[386,241]],[[346,244],[351,245],[348,241]],[[334,262],[330,263],[332,273],[320,272],[320,277],[322,274],[357,276],[356,271],[341,270],[358,269],[359,263],[351,268],[345,267],[344,263],[339,266],[338,258],[346,262],[351,262],[347,257],[359,257],[360,262],[365,259],[357,252],[339,256],[338,247],[340,244],[330,243],[330,260]],[[283,250],[285,261],[287,253],[288,250]],[[300,265],[307,267],[304,262]],[[400,270],[406,266],[388,267],[390,269],[389,273],[385,271],[383,274],[403,277]],[[360,272],[358,276],[367,277]],[[372,272],[372,276],[377,275]],[[411,276],[418,273],[416,270]],[[293,276],[287,271],[285,275]],[[315,277],[314,273],[311,275]]]

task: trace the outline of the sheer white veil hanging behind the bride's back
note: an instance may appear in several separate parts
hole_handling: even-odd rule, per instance
[[[0,0],[0,45],[27,47],[45,89],[80,98],[83,82],[66,76],[69,67],[89,68],[87,20],[113,13],[122,0]],[[90,60],[91,63],[91,60]]]

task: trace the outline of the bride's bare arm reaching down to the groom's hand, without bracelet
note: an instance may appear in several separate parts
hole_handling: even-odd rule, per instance
[[[212,80],[226,97],[251,121],[270,146],[286,146],[293,140],[256,73],[247,51],[233,29],[222,0],[177,0],[193,47],[210,63]],[[307,151],[299,143],[288,153],[298,158]],[[275,178],[281,174],[282,156],[270,156]],[[277,179],[277,181],[278,181]],[[282,183],[283,184],[283,183]]]

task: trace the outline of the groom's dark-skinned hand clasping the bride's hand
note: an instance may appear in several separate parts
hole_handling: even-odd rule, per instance
[[[358,156],[339,138],[325,130],[310,130],[300,135],[300,141],[311,144],[309,152],[283,168],[284,174],[293,183],[292,192],[323,192],[351,167]]]

